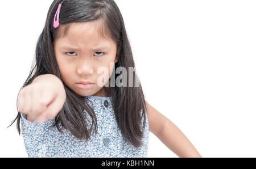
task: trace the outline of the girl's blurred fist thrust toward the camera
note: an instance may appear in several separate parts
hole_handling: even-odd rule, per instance
[[[53,74],[44,74],[20,90],[18,110],[27,114],[28,121],[39,123],[53,119],[63,108],[66,92],[63,83]]]

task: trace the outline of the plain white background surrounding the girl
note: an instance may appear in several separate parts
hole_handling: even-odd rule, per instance
[[[256,2],[115,2],[148,103],[202,157],[256,157]],[[16,122],[7,126],[51,3],[1,2],[0,157],[27,157]],[[148,157],[177,155],[150,133]]]

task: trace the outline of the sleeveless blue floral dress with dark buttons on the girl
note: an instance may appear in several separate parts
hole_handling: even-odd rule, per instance
[[[122,137],[111,103],[112,97],[86,96],[90,106],[93,104],[97,116],[98,132],[91,134],[88,141],[78,140],[60,125],[64,134],[56,127],[50,128],[54,119],[39,124],[30,122],[22,116],[22,136],[28,157],[147,157],[148,119],[144,130],[143,145],[135,147]],[[84,111],[91,121],[90,116]],[[143,119],[142,119],[143,122]],[[88,129],[91,124],[88,124]]]

